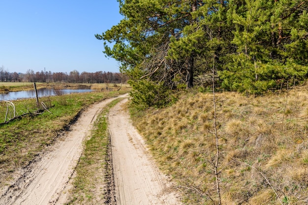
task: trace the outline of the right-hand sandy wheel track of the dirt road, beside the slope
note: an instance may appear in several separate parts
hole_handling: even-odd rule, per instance
[[[109,112],[117,205],[180,205],[178,195],[149,157],[143,138],[121,107]]]

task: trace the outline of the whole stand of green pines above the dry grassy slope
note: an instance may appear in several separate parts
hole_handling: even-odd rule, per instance
[[[172,101],[170,90],[192,88],[210,69],[221,88],[248,93],[307,74],[306,0],[118,1],[123,20],[95,36],[113,45],[104,53],[121,62],[143,107]]]

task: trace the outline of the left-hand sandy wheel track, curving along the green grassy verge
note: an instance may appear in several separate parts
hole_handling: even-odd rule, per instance
[[[125,97],[122,95],[119,97]],[[103,107],[115,98],[89,106],[52,150],[24,170],[4,194],[0,205],[54,205],[72,176],[93,122]]]

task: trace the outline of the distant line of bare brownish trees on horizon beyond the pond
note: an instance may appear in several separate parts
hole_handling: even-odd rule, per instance
[[[94,73],[73,70],[66,72],[40,71],[29,69],[26,73],[10,73],[0,67],[0,82],[41,82],[41,83],[125,83],[126,76],[117,72],[97,71]]]

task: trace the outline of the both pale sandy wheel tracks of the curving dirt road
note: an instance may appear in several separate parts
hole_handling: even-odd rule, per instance
[[[120,96],[123,97],[124,95]],[[83,141],[92,129],[107,99],[82,113],[64,140],[57,142],[37,163],[21,171],[20,177],[0,197],[0,205],[55,205],[74,172],[83,150]],[[110,113],[117,205],[176,205],[163,176],[145,156],[141,137],[121,111],[120,104]],[[168,194],[169,193],[169,194]],[[61,198],[62,200],[58,200]]]

